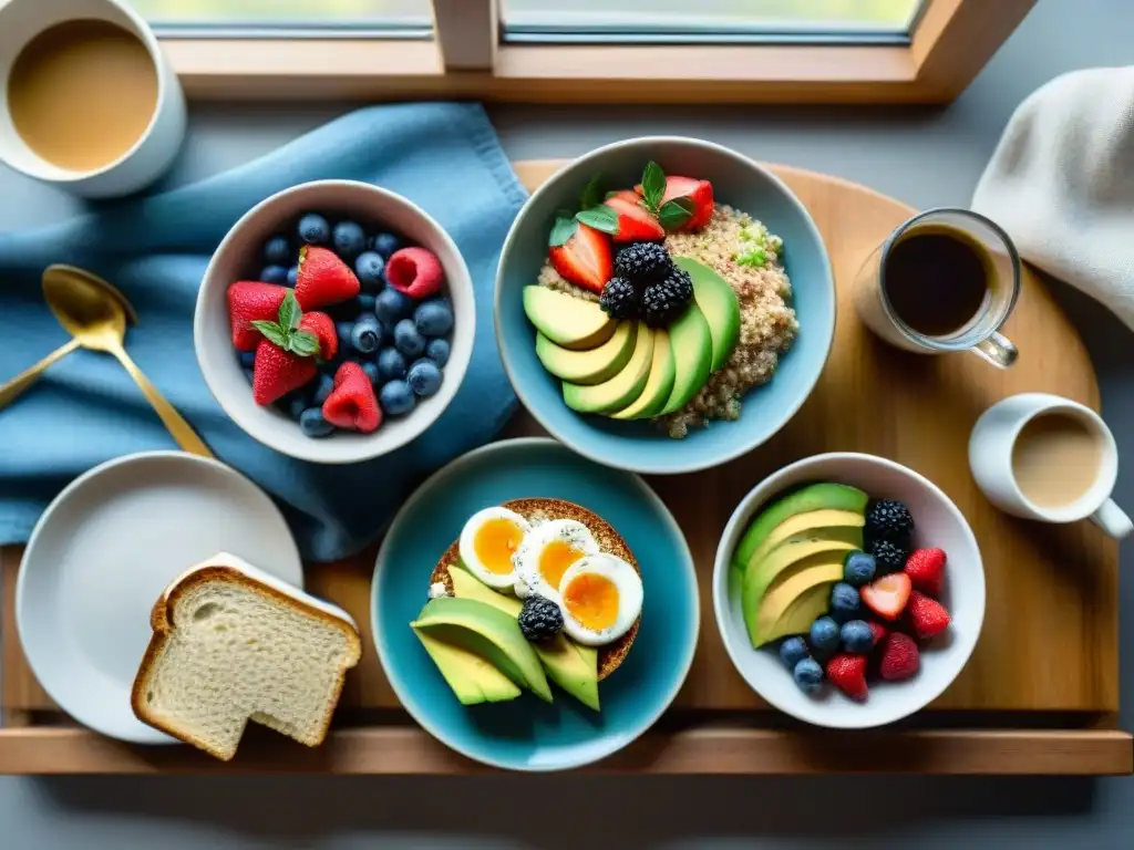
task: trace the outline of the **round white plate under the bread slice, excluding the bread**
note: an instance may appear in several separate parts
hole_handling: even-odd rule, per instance
[[[303,587],[279,509],[219,461],[144,452],[71,482],[32,532],[16,583],[20,643],[44,690],[103,734],[171,742],[130,708],[150,611],[172,579],[220,551]]]

